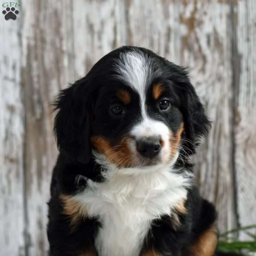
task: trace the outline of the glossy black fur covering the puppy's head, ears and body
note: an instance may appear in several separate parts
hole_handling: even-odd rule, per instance
[[[172,131],[177,130],[180,122],[184,122],[184,154],[194,154],[199,139],[207,135],[210,122],[186,69],[144,48],[122,47],[105,55],[87,76],[62,90],[55,103],[58,112],[54,130],[60,154],[52,175],[49,201],[47,234],[51,256],[87,255],[86,252],[94,247],[100,221],[97,218],[84,217],[77,221],[76,230],[71,230],[70,216],[63,213],[63,202],[59,196],[75,195],[86,188],[88,179],[104,181],[101,175],[102,166],[97,165],[92,157],[92,134],[104,135],[111,141],[118,141],[140,119],[140,114],[135,112],[122,121],[111,118],[106,109],[108,103],[105,102],[109,100],[115,87],[125,87],[123,81],[116,76],[114,63],[120,52],[131,50],[143,52],[153,60],[154,68],[161,70],[162,75],[154,77],[151,84],[163,81],[170,88],[173,112],[166,116],[157,116],[154,109],[148,111],[156,119],[167,123]],[[132,106],[139,104],[136,95],[133,100]],[[131,112],[132,106],[129,109]],[[178,160],[176,166],[192,171],[192,165],[186,158]],[[78,180],[77,177],[81,178]],[[191,252],[188,253],[189,247],[215,222],[216,211],[212,204],[201,198],[196,186],[189,189],[186,211],[186,214],[180,213],[178,216],[181,223],[179,227],[175,227],[170,216],[162,216],[153,221],[151,230],[145,237],[141,255],[154,248],[160,256],[193,256]],[[97,255],[97,252],[93,253],[88,255]]]

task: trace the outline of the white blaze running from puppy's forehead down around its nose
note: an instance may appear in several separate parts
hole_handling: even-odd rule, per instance
[[[140,137],[159,137],[164,142],[163,148],[160,151],[161,163],[169,161],[172,148],[170,143],[171,131],[160,121],[151,119],[146,112],[146,90],[151,80],[155,76],[160,75],[153,72],[154,63],[143,52],[131,51],[120,54],[120,59],[117,60],[116,69],[119,72],[119,78],[124,80],[132,87],[140,96],[140,106],[142,121],[134,125],[131,135],[140,139]],[[135,141],[129,142],[129,148],[134,154],[134,160],[137,159],[137,149]]]

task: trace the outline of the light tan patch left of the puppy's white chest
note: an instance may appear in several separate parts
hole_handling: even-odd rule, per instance
[[[72,196],[61,194],[59,198],[63,203],[63,214],[70,218],[70,227],[74,230],[79,220],[86,217],[88,214],[84,207],[82,207]]]

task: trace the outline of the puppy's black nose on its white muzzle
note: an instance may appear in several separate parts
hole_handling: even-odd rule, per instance
[[[137,151],[143,156],[152,158],[157,156],[161,150],[159,138],[143,137],[136,142]]]

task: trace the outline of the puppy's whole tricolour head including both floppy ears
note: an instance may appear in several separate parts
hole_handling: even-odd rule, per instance
[[[105,55],[56,108],[59,149],[81,163],[92,150],[118,167],[175,163],[209,126],[186,70],[138,47]]]

